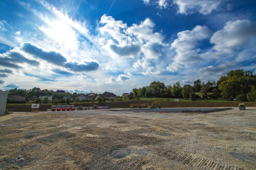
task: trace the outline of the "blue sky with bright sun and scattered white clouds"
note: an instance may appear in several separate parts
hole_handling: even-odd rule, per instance
[[[129,93],[256,72],[255,0],[2,0],[0,89]]]

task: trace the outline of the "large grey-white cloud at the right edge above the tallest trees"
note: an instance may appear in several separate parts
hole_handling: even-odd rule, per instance
[[[256,23],[249,20],[236,20],[226,23],[222,30],[216,31],[210,42],[214,49],[232,53],[234,49],[245,46],[250,40],[255,40]]]

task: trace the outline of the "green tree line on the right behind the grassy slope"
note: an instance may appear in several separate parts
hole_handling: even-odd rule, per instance
[[[243,69],[231,70],[219,80],[202,82],[196,80],[191,85],[181,87],[180,82],[173,85],[165,85],[163,82],[154,81],[149,86],[133,88],[135,97],[163,97],[163,98],[201,98],[197,92],[201,92],[203,98],[236,98],[240,101],[256,100],[256,75],[252,71]]]

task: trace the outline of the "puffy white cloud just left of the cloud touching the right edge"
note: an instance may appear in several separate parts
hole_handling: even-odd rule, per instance
[[[195,49],[199,45],[198,41],[210,38],[212,31],[207,26],[197,25],[192,31],[182,31],[178,33],[178,38],[171,44],[175,49],[174,61],[180,64],[192,64],[203,61],[200,54],[201,49]]]

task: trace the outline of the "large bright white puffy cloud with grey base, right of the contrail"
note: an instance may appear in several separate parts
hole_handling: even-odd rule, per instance
[[[163,37],[158,32],[153,32],[155,23],[147,18],[140,25],[133,24],[127,27],[126,23],[116,21],[112,16],[103,15],[100,28],[101,34],[106,35],[104,48],[112,56],[139,56],[142,52],[145,59],[154,59],[161,56],[159,46],[165,46]],[[107,36],[109,35],[109,37]]]

